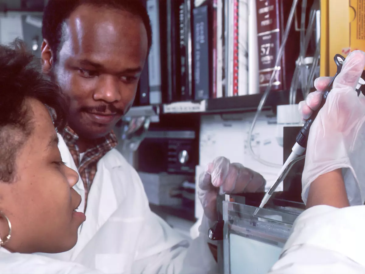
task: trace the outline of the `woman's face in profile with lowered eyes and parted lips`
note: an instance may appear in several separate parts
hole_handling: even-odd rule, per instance
[[[26,99],[33,112],[33,131],[19,148],[12,183],[0,181],[0,210],[12,224],[11,239],[5,244],[11,252],[58,253],[71,249],[78,227],[85,221],[74,210],[81,197],[72,189],[78,175],[66,167],[57,147],[57,134],[46,107]],[[0,219],[0,235],[7,235],[7,224]]]

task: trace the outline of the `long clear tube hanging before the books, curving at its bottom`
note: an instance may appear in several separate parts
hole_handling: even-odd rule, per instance
[[[287,40],[288,40],[288,35],[289,35],[289,31],[290,31],[290,28],[291,28],[292,23],[293,23],[295,8],[296,8],[297,4],[298,4],[298,0],[293,0],[293,4],[292,4],[292,7],[291,7],[291,10],[290,10],[290,13],[289,13],[289,17],[288,17],[287,26],[285,27],[285,32],[284,32],[284,35],[283,35],[283,41],[281,42],[281,45],[280,45],[280,48],[279,48],[279,52],[278,52],[278,55],[277,55],[277,58],[276,58],[276,62],[275,62],[275,66],[274,66],[275,68],[277,68],[277,66],[279,65],[279,63],[281,61],[281,56],[283,56],[285,44],[287,43]],[[272,82],[274,80],[275,73],[276,73],[276,71],[274,69],[273,72],[272,72],[272,74],[271,74],[270,80],[269,80],[269,85],[266,87],[266,90],[265,90],[264,94],[262,95],[261,101],[258,104],[255,117],[253,118],[250,131],[249,131],[249,133],[247,135],[247,143],[248,143],[249,151],[250,151],[251,155],[253,156],[253,158],[255,160],[257,160],[259,163],[264,164],[264,165],[267,165],[269,167],[275,167],[275,168],[277,168],[277,167],[281,167],[281,165],[280,164],[275,164],[275,163],[270,163],[269,161],[262,160],[260,158],[260,156],[257,156],[255,154],[255,152],[253,151],[252,146],[251,146],[252,132],[253,132],[253,129],[255,128],[255,124],[256,124],[257,118],[261,114],[262,107],[264,107],[264,104],[266,102],[266,99],[268,98],[269,92],[271,90]]]

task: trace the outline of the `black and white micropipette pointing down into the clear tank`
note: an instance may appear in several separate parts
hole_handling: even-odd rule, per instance
[[[278,179],[272,185],[272,187],[270,187],[270,189],[265,193],[265,196],[262,199],[260,206],[255,209],[255,212],[252,217],[254,217],[257,214],[257,212],[260,210],[260,208],[263,208],[266,205],[266,203],[269,201],[271,195],[274,193],[274,191],[276,190],[278,185],[284,180],[285,176],[287,176],[287,174],[290,171],[293,164],[295,164],[297,161],[299,161],[301,159],[304,159],[304,156],[302,156],[302,155],[307,148],[307,141],[308,141],[310,127],[311,127],[314,119],[317,117],[319,110],[323,107],[324,103],[326,102],[327,96],[332,89],[333,81],[335,80],[337,75],[341,72],[342,65],[343,65],[343,62],[345,61],[345,58],[343,56],[341,56],[340,54],[336,54],[334,57],[334,61],[335,61],[335,64],[337,65],[337,71],[336,71],[335,75],[333,76],[333,78],[331,79],[330,83],[328,84],[326,90],[324,90],[324,92],[323,92],[322,101],[320,103],[320,106],[318,107],[317,110],[315,110],[312,113],[311,117],[306,121],[304,126],[301,128],[300,132],[298,133],[298,135],[296,137],[296,142],[292,148],[292,153],[289,155],[288,159],[285,161],[283,167],[281,168],[281,170],[278,173]],[[364,80],[362,80],[362,81],[361,80],[362,79],[360,78],[359,84],[356,87],[358,94],[360,92],[361,85],[365,83]]]

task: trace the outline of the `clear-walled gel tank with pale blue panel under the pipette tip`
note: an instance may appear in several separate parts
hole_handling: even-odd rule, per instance
[[[223,273],[267,273],[278,260],[293,222],[303,209],[285,202],[262,209],[252,218],[255,206],[232,202],[231,197],[227,200],[223,201],[223,262],[218,260],[223,263]]]

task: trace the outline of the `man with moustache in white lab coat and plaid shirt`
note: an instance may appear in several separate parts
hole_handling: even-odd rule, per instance
[[[80,174],[74,188],[87,216],[76,246],[49,256],[105,273],[214,272],[207,232],[218,188],[256,191],[265,180],[227,159],[214,161],[201,180],[207,217],[194,241],[151,212],[141,179],[115,149],[112,132],[133,103],[151,47],[146,8],[138,0],[50,0],[42,33],[42,69],[69,103],[59,149]]]

